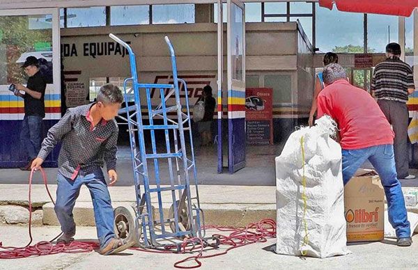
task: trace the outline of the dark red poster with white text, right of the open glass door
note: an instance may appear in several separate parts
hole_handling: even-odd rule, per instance
[[[247,88],[245,91],[248,144],[273,144],[272,94],[272,88]]]

